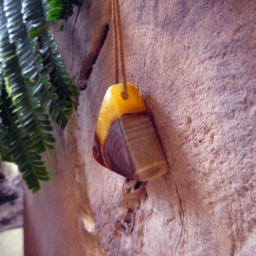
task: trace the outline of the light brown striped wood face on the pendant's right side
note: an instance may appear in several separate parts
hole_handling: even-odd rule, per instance
[[[166,158],[148,113],[125,114],[118,120],[139,180],[165,174]]]

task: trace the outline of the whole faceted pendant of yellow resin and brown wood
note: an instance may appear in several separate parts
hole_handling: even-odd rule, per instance
[[[139,92],[127,83],[129,98],[120,96],[122,84],[108,88],[92,146],[95,160],[128,179],[146,181],[165,174],[166,157]]]

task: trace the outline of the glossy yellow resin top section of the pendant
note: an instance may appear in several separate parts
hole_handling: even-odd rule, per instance
[[[143,100],[132,83],[127,83],[127,93],[129,94],[127,100],[121,98],[122,91],[122,84],[110,86],[102,102],[96,126],[96,134],[102,149],[104,149],[110,125],[115,119],[123,114],[147,113]]]

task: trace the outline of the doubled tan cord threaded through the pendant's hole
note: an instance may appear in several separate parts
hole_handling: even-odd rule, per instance
[[[123,100],[127,100],[129,95],[127,93],[127,82],[125,77],[125,61],[124,61],[124,54],[123,54],[123,38],[122,38],[122,29],[121,29],[119,0],[112,0],[112,23],[113,23],[113,41],[114,41],[115,84],[118,84],[117,51],[119,51],[121,79],[122,79],[122,86],[123,86],[121,97],[123,98]],[[117,44],[117,39],[118,39],[118,44]]]

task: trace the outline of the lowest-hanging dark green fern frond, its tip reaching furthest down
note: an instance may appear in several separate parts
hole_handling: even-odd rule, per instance
[[[15,162],[20,172],[23,173],[22,178],[26,181],[28,188],[36,193],[41,189],[39,180],[49,180],[51,177],[46,171],[46,167],[43,166],[44,161],[40,161],[42,157],[35,150],[37,141],[31,141],[31,137],[24,132],[22,122],[6,91],[3,80],[1,80],[0,95],[4,102],[0,112],[0,134],[1,143],[5,145],[4,152],[1,148],[1,158],[5,161]]]

